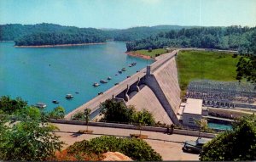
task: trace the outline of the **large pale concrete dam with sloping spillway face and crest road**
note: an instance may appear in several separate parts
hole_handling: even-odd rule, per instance
[[[65,118],[71,119],[84,109],[91,109],[90,116],[93,118],[98,115],[101,103],[116,98],[124,101],[126,105],[134,105],[137,110],[147,109],[154,115],[156,122],[179,124],[177,112],[181,103],[181,90],[177,79],[177,52],[178,50],[174,50],[172,53],[160,55],[147,68],[92,98],[67,114]]]

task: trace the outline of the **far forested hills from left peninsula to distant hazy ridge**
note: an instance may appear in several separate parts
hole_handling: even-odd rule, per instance
[[[15,41],[17,46],[38,46],[56,44],[77,44],[114,41],[131,42],[148,36],[156,36],[160,31],[189,28],[178,25],[157,25],[133,27],[125,30],[97,30],[54,24],[0,25],[0,41]]]

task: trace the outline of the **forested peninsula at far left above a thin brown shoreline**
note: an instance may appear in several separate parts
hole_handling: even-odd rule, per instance
[[[0,40],[15,41],[17,46],[106,42],[104,31],[54,24],[1,25]]]

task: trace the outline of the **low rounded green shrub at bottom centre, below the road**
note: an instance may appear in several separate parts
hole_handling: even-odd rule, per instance
[[[147,142],[136,138],[117,138],[102,136],[91,139],[90,141],[75,142],[67,148],[67,154],[87,154],[94,155],[111,152],[120,152],[138,161],[160,161],[160,154],[156,153]]]

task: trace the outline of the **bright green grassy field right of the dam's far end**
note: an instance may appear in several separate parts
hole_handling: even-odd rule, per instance
[[[177,69],[179,85],[186,90],[189,81],[194,79],[209,79],[215,81],[236,81],[236,64],[239,57],[233,54],[182,51],[177,54]]]

